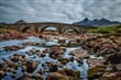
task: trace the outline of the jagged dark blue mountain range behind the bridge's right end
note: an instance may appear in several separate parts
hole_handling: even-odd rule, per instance
[[[73,24],[74,24],[74,25],[88,25],[88,26],[108,26],[108,25],[121,24],[121,22],[109,21],[109,20],[107,20],[107,19],[89,20],[89,19],[85,18],[82,21],[80,21],[80,22],[75,22],[75,23],[73,23]]]

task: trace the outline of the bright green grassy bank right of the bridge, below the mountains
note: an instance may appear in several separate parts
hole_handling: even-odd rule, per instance
[[[94,27],[89,28],[89,33],[103,33],[103,34],[112,34],[116,31],[121,31],[121,25],[116,25],[116,26],[99,26],[99,27]]]

